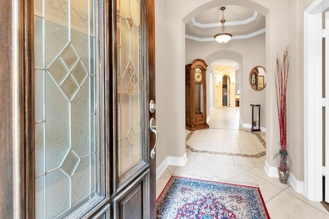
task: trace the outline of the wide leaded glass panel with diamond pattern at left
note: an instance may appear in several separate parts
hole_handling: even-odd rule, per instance
[[[35,215],[99,193],[94,0],[34,0]]]

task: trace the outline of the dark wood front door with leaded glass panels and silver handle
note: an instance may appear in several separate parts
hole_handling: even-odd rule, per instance
[[[33,4],[31,212],[154,218],[154,1]]]

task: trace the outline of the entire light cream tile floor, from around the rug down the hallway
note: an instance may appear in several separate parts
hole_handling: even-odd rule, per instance
[[[255,133],[239,127],[239,108],[211,110],[210,128],[195,131],[187,149],[184,167],[168,166],[157,181],[157,196],[171,175],[205,180],[258,186],[271,218],[329,218],[329,212],[319,202],[310,202],[278,178],[264,171],[264,145]],[[233,124],[230,123],[233,121]],[[235,122],[237,121],[238,124]],[[187,136],[190,132],[187,131]],[[260,133],[265,140],[265,133]],[[210,152],[207,152],[210,151]]]

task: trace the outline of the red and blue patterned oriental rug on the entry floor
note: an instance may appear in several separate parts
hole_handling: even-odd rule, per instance
[[[258,187],[172,176],[157,200],[157,218],[270,218]]]

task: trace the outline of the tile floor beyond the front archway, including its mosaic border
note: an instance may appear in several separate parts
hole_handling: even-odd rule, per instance
[[[250,129],[241,128],[239,108],[210,110],[210,118],[209,129],[194,132],[186,130],[187,148],[190,151],[253,157],[253,162],[264,166],[265,132],[251,132]]]

